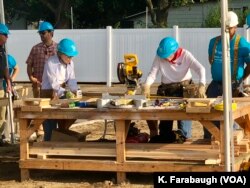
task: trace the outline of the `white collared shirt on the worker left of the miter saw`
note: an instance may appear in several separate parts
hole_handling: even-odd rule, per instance
[[[61,87],[63,83],[68,83],[71,91],[77,90],[74,62],[71,60],[71,62],[66,65],[59,61],[57,55],[51,56],[44,66],[42,89],[53,89],[60,97],[65,91],[65,88]]]

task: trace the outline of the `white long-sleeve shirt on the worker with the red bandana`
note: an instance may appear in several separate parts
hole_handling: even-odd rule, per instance
[[[182,49],[181,55],[174,62],[175,64],[170,63],[156,55],[145,84],[153,84],[159,72],[161,82],[164,84],[190,80],[192,79],[191,70],[199,76],[199,83],[206,84],[205,68],[188,50]]]

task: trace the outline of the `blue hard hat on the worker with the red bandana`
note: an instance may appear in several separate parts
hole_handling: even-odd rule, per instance
[[[174,54],[179,48],[179,44],[172,37],[166,37],[161,40],[159,47],[157,49],[157,55],[160,58],[168,58]]]

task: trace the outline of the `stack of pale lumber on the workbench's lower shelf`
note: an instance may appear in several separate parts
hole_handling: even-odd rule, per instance
[[[74,159],[86,157],[115,158],[115,142],[43,142],[33,143],[30,148],[31,158]],[[199,162],[206,165],[220,164],[219,146],[207,144],[156,144],[127,143],[126,160]]]

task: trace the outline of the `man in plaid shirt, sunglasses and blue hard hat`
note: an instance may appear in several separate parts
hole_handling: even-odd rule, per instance
[[[53,40],[54,27],[50,22],[40,22],[38,34],[41,42],[34,45],[26,60],[27,74],[32,84],[33,97],[40,97],[43,69],[46,60],[57,53],[57,42]],[[44,131],[41,125],[36,132],[37,140],[43,139]]]

